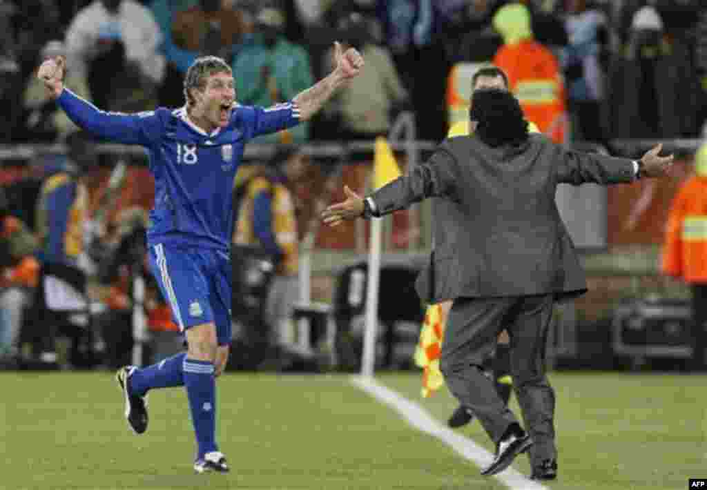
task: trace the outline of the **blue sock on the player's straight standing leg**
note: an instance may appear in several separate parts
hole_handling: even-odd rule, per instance
[[[216,446],[216,378],[214,363],[185,358],[184,384],[187,387],[189,409],[192,412],[194,432],[197,434],[199,453],[218,451]]]

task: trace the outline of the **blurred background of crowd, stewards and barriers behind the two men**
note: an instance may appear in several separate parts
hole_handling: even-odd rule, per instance
[[[677,156],[664,180],[559,189],[589,293],[558,308],[552,367],[705,371],[707,10],[544,0],[497,15],[509,3],[0,0],[0,368],[113,369],[183,348],[145,266],[146,154],[77,132],[34,78],[42,59],[64,55],[66,86],[135,112],[180,107],[189,64],[216,54],[238,101],[267,106],[329,73],[339,40],[363,74],[308,124],[253,141],[233,184],[229,369],[361,367],[368,224],[329,230],[317,215],[344,184],[370,191],[376,137],[403,170],[423,161],[468,117],[474,71],[495,63],[555,141],[631,158],[662,142]],[[411,369],[429,207],[383,229],[375,361]]]

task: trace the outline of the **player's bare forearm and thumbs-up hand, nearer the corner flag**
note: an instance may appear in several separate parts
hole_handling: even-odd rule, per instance
[[[293,98],[293,103],[300,110],[300,120],[307,121],[315,115],[327,103],[327,100],[332,98],[337,88],[351,78],[358,76],[363,68],[361,54],[353,47],[344,51],[339,42],[334,43],[334,58],[337,67],[332,73]]]

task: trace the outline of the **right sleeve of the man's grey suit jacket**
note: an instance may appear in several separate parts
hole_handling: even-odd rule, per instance
[[[615,158],[597,153],[566,150],[556,146],[559,151],[557,182],[571,185],[594,183],[612,185],[629,183],[636,180],[633,160]]]

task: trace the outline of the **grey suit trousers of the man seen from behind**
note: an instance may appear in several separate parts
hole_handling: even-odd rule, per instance
[[[457,298],[452,304],[442,344],[440,368],[452,394],[474,416],[495,443],[510,424],[518,423],[498,397],[481,363],[496,347],[504,328],[510,335],[513,387],[534,447],[531,463],[556,458],[555,394],[545,375],[547,334],[554,298]]]

